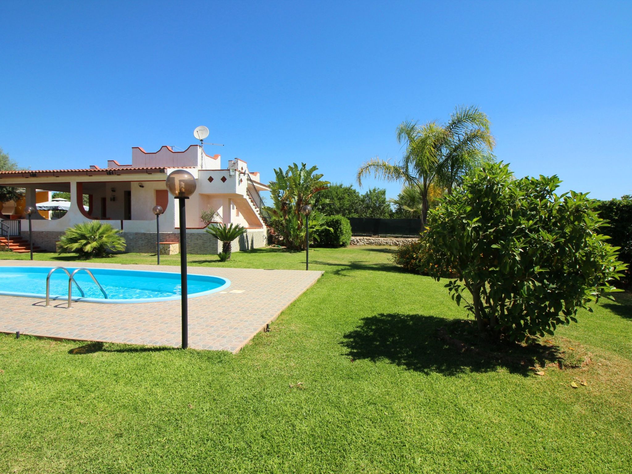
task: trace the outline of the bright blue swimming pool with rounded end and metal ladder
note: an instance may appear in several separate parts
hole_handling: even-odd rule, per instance
[[[0,267],[0,295],[46,298],[46,276],[54,267]],[[80,267],[66,267],[72,273]],[[89,268],[106,291],[104,298],[90,275],[80,271],[75,281],[85,296],[73,284],[72,300],[88,303],[152,303],[179,300],[180,274],[144,270]],[[188,274],[188,297],[210,295],[230,286],[226,278]],[[56,270],[51,276],[51,300],[68,300],[68,275]]]

